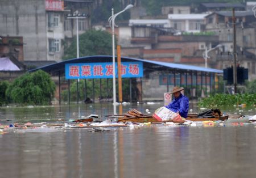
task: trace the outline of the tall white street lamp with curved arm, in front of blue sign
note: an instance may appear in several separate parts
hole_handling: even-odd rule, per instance
[[[109,18],[109,26],[112,28],[112,60],[113,60],[113,105],[114,105],[114,115],[117,114],[117,109],[115,108],[116,103],[116,93],[115,93],[115,33],[114,33],[114,27],[118,27],[115,24],[115,18],[121,14],[122,12],[130,9],[133,7],[133,5],[128,5],[123,9],[122,11],[118,12],[117,14],[114,14],[114,9],[112,9],[112,16]]]

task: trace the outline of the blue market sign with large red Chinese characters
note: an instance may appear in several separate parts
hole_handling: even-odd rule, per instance
[[[122,78],[143,77],[142,62],[121,62]],[[115,63],[115,77],[118,77],[117,62]],[[66,79],[113,78],[113,63],[66,63]]]

